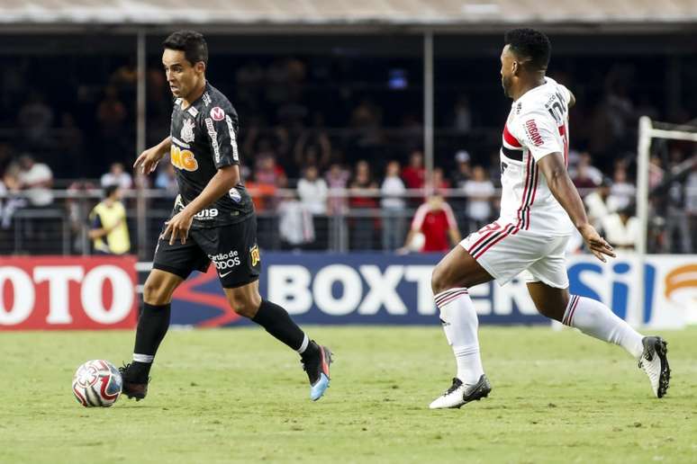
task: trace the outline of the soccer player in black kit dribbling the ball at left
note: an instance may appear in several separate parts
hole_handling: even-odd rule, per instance
[[[284,308],[259,295],[257,218],[240,179],[237,112],[206,81],[204,36],[177,31],[163,47],[162,64],[176,97],[170,136],[133,166],[150,174],[169,152],[179,194],[143,287],[133,361],[121,369],[123,393],[137,400],[147,395],[150,366],[169,326],[172,293],[192,271],[205,272],[213,262],[231,308],[300,354],[310,397],[317,400],[329,387],[331,352],[310,340]]]

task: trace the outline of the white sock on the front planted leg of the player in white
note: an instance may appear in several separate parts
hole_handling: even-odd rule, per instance
[[[466,384],[475,384],[484,374],[479,357],[479,339],[475,306],[465,288],[450,289],[434,296],[440,309],[440,322],[455,353],[457,379]]]

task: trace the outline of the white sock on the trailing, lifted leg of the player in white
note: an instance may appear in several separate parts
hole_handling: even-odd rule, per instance
[[[562,322],[566,326],[576,327],[585,335],[619,344],[634,359],[638,359],[644,351],[641,344],[643,336],[595,299],[572,295]]]

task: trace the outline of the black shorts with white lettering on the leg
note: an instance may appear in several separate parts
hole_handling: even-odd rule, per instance
[[[181,240],[169,245],[168,238],[160,237],[152,261],[153,269],[171,272],[182,279],[192,271],[206,272],[213,261],[226,289],[257,281],[261,270],[257,218],[252,216],[219,228],[192,228],[184,245]]]

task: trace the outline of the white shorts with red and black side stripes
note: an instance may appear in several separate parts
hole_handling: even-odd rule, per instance
[[[542,235],[493,222],[466,236],[460,245],[499,285],[528,271],[523,276],[526,282],[541,281],[566,289],[569,280],[564,252],[568,239],[569,236]]]

